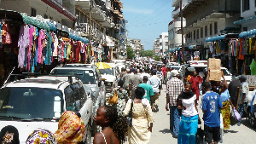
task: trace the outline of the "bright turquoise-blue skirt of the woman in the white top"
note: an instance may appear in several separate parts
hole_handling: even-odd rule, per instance
[[[182,115],[179,124],[177,144],[195,144],[195,134],[198,126],[198,115],[185,117]]]

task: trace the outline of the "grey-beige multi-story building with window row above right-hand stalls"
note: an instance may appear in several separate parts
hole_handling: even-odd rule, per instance
[[[233,21],[240,17],[240,0],[191,0],[183,8],[183,27],[187,47],[208,47],[207,37],[236,31]]]

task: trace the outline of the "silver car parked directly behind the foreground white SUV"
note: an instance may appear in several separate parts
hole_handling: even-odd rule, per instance
[[[91,97],[93,101],[93,114],[96,110],[105,105],[106,90],[102,81],[101,73],[97,66],[87,64],[67,64],[64,66],[57,66],[50,72],[55,75],[73,74],[77,75],[83,82],[84,88],[89,87],[92,91]],[[85,87],[86,86],[86,87]]]

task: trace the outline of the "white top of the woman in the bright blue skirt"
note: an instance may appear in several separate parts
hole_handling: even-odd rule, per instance
[[[195,109],[195,100],[196,95],[191,97],[190,99],[183,99],[182,104],[183,107],[186,107],[186,109],[182,111],[183,116],[185,117],[193,117],[198,114],[198,112]]]

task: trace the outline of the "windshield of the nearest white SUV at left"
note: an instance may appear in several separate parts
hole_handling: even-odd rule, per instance
[[[63,95],[57,89],[0,89],[0,118],[60,118]]]

